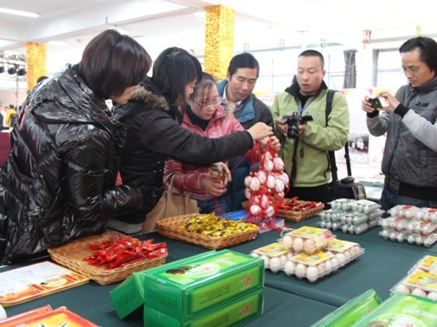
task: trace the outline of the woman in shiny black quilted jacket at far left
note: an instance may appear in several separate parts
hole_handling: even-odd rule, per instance
[[[0,263],[101,233],[141,207],[139,189],[115,186],[125,130],[105,100],[126,103],[151,63],[132,37],[107,30],[31,90],[0,174]]]

